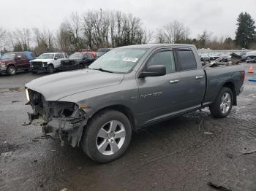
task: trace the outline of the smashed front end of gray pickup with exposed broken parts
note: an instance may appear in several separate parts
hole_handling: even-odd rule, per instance
[[[62,101],[45,101],[42,94],[29,90],[33,113],[28,113],[29,122],[37,120],[45,135],[67,136],[72,147],[79,146],[89,116],[77,104]]]

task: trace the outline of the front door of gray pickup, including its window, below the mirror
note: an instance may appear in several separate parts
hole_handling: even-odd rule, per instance
[[[147,66],[164,65],[166,74],[159,77],[138,78],[139,108],[138,124],[146,124],[168,117],[178,111],[181,90],[180,75],[176,72],[176,58],[171,49],[160,49],[146,61]]]

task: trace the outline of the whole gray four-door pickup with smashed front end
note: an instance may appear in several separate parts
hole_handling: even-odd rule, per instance
[[[226,117],[244,77],[240,65],[202,66],[189,44],[118,47],[89,69],[27,83],[29,120],[108,163],[124,154],[133,130],[207,106],[213,117]]]

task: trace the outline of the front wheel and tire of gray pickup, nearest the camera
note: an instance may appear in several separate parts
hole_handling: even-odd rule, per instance
[[[83,133],[83,151],[97,163],[108,163],[124,154],[132,138],[128,118],[116,110],[96,114]]]

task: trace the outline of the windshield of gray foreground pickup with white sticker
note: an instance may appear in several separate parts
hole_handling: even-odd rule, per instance
[[[127,73],[135,66],[148,49],[121,48],[110,50],[91,63],[89,69],[103,69]]]

